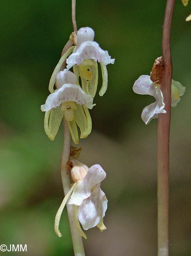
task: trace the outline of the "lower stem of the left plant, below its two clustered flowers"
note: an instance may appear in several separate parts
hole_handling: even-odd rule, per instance
[[[64,194],[67,195],[67,193],[70,190],[70,184],[71,184],[70,171],[68,168],[68,161],[69,161],[70,147],[71,147],[71,135],[70,135],[67,121],[64,117],[63,117],[63,134],[64,134],[64,142],[63,142],[63,151],[62,151],[62,157],[61,157],[61,163],[60,163],[60,171],[61,171]],[[78,231],[75,225],[74,206],[72,204],[66,204],[66,206],[67,206],[68,217],[69,217],[74,255],[85,256],[82,236],[78,234]]]

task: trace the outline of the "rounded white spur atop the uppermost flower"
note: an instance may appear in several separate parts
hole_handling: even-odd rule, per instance
[[[92,28],[80,28],[77,34],[77,47],[78,48],[85,41],[93,41],[95,33]]]

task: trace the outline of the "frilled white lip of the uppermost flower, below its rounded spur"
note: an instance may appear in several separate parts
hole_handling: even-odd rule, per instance
[[[101,62],[108,65],[109,63],[113,64],[115,59],[111,59],[108,51],[102,50],[98,43],[92,41],[85,41],[81,43],[76,52],[70,54],[67,59],[67,70],[73,67],[75,64],[80,65],[85,59],[94,59],[95,61]]]

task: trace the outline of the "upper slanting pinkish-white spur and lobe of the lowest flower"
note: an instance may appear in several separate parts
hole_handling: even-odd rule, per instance
[[[71,195],[69,204],[75,204],[79,206],[83,200],[91,195],[92,188],[97,184],[100,186],[100,182],[106,178],[106,173],[102,167],[98,164],[89,168],[87,174],[83,180],[79,180]],[[99,224],[99,223],[98,223]]]

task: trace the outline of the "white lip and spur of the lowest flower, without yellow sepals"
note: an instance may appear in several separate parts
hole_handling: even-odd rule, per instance
[[[87,171],[83,180],[79,180],[69,200],[69,204],[78,206],[77,219],[87,230],[101,223],[108,205],[100,182],[106,178],[106,173],[98,164]]]

